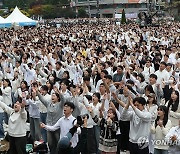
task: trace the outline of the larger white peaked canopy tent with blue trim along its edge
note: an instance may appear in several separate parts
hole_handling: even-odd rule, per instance
[[[26,17],[16,6],[14,11],[5,19],[6,22],[19,26],[34,26],[37,24],[35,20]]]

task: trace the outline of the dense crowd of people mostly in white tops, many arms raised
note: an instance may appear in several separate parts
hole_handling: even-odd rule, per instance
[[[180,153],[180,23],[1,29],[0,87],[9,154]]]

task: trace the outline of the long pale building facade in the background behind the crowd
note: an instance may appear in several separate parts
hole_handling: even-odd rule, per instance
[[[85,8],[89,17],[112,18],[124,9],[133,14],[146,12],[149,9],[149,0],[76,0],[76,8]]]

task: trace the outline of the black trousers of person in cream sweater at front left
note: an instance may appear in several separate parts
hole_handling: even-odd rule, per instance
[[[9,151],[8,154],[26,154],[26,136],[12,137],[9,136]]]

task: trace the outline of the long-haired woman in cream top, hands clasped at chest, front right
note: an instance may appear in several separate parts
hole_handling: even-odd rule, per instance
[[[165,136],[171,128],[171,121],[168,119],[168,109],[166,106],[158,107],[158,117],[155,124],[151,127],[151,133],[155,134],[154,154],[168,154],[168,145],[159,144],[159,141],[165,141]]]

